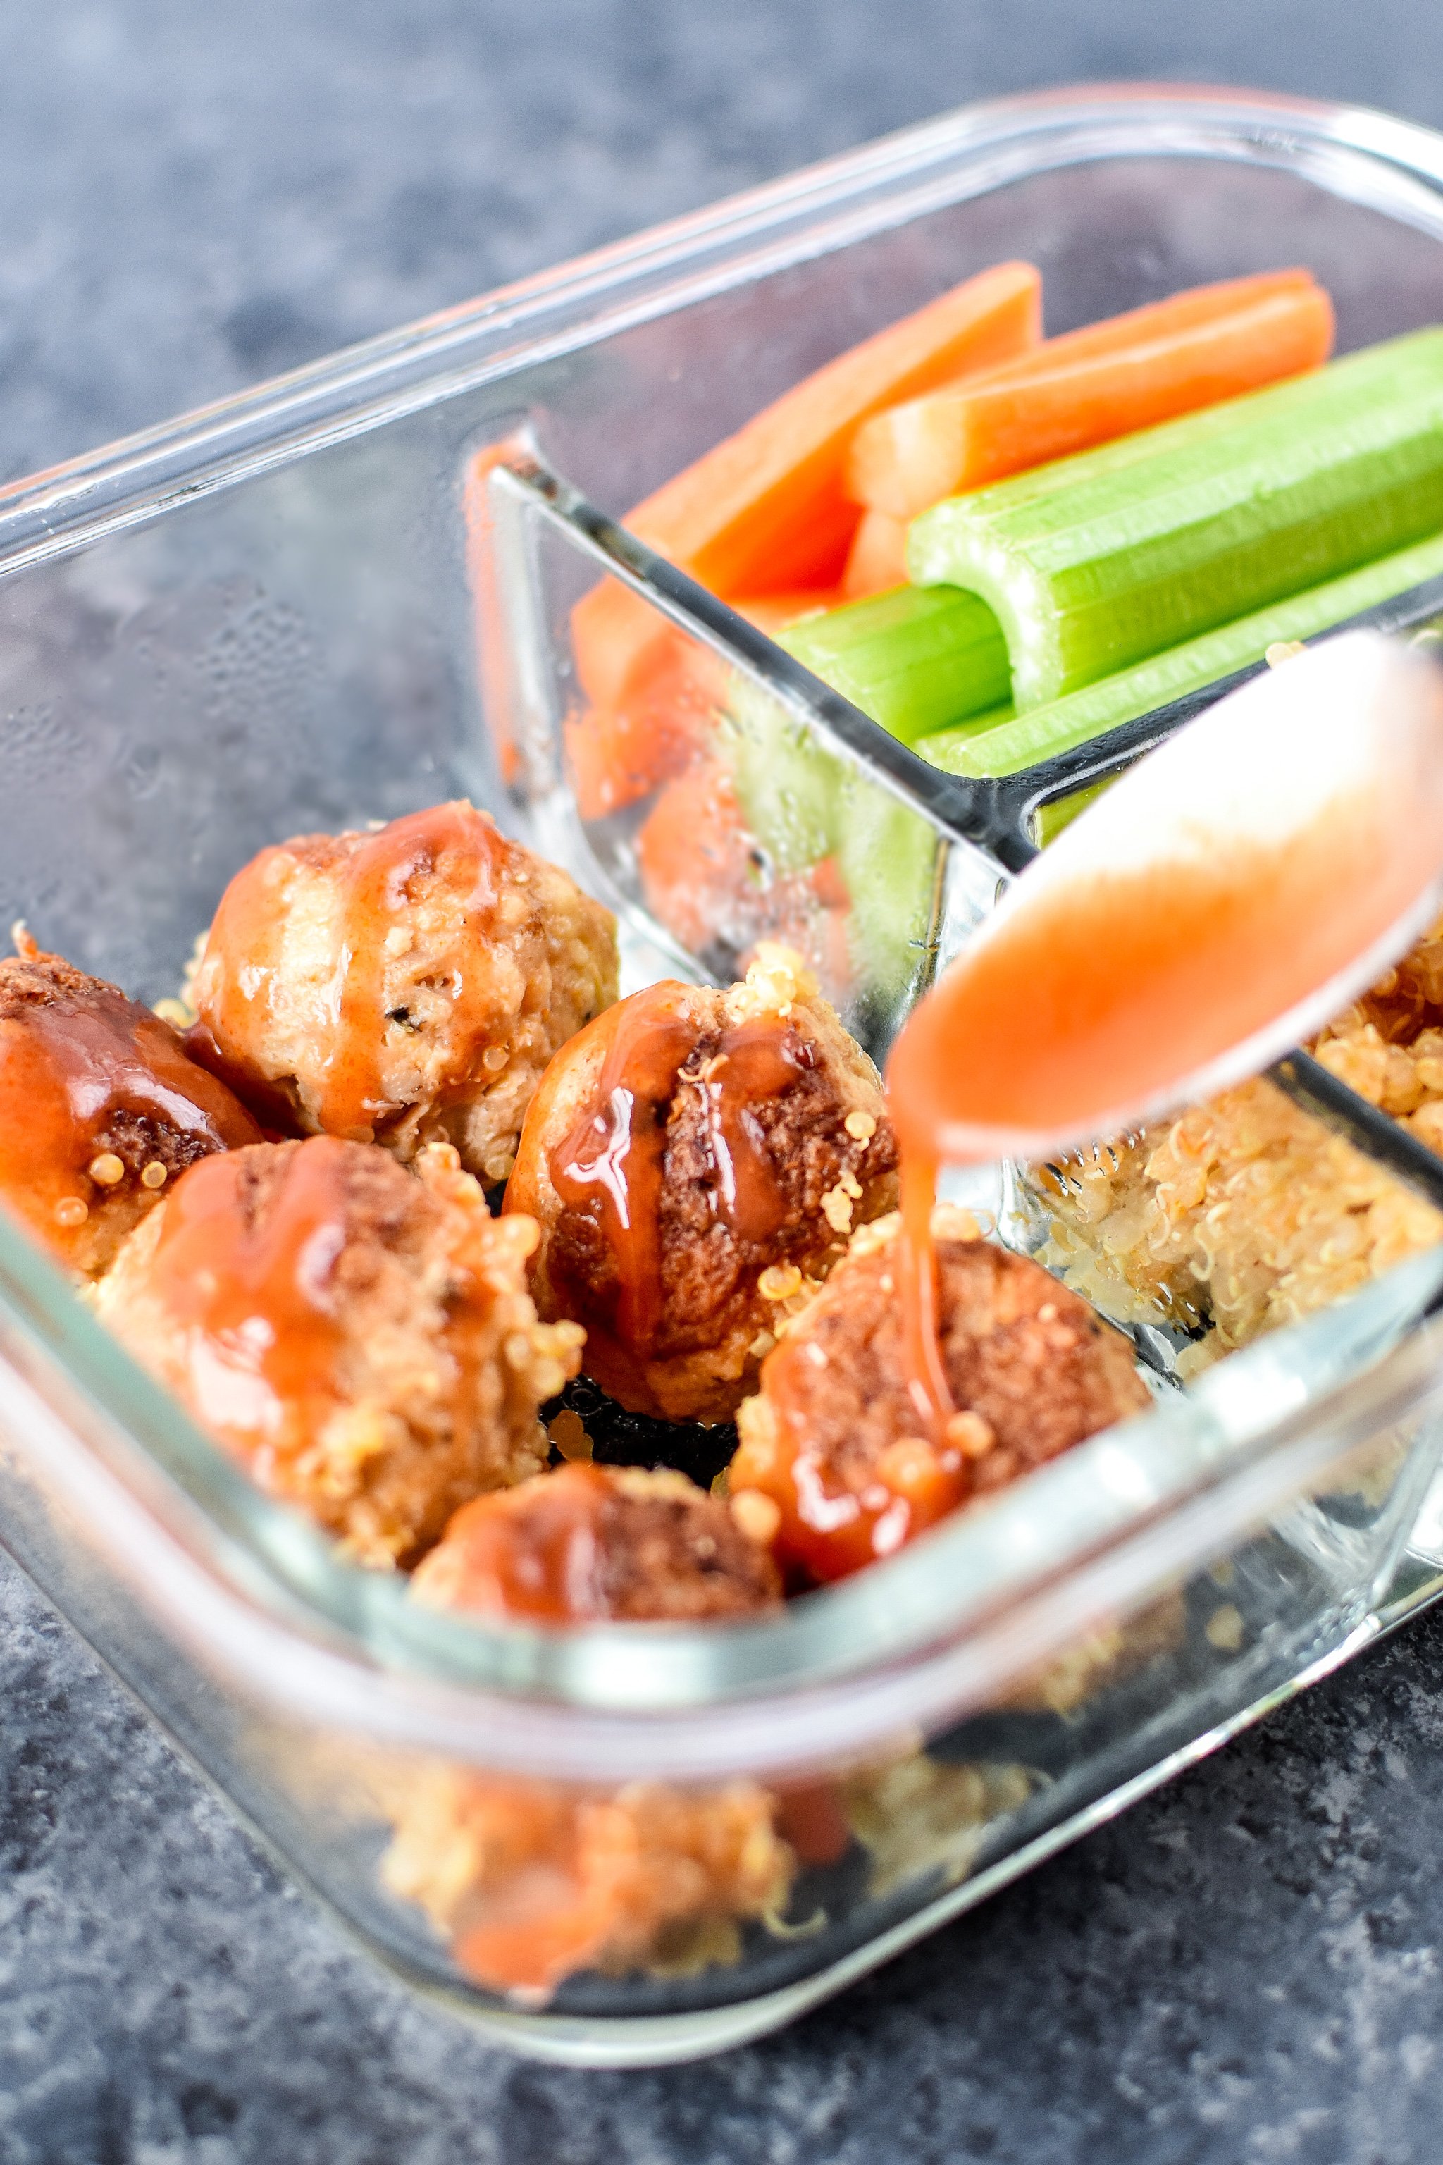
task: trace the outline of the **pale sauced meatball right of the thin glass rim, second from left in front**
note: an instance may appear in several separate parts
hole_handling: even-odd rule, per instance
[[[413,1563],[480,1490],[537,1472],[575,1325],[537,1323],[537,1228],[444,1143],[260,1143],[193,1167],[97,1310],[201,1427],[370,1565]]]

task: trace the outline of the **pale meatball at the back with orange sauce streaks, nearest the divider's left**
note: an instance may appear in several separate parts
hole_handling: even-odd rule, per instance
[[[433,805],[262,849],[190,998],[197,1057],[275,1126],[402,1163],[448,1141],[495,1182],[541,1070],[617,998],[617,924],[485,812]]]

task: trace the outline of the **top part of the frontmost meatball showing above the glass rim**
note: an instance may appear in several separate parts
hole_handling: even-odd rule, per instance
[[[781,1600],[777,1565],[686,1474],[562,1466],[456,1511],[413,1578],[433,1609],[539,1624],[699,1622]]]

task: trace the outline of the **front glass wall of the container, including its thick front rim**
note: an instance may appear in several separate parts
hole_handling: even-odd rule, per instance
[[[575,1706],[571,1764],[539,1771],[554,1751],[545,1708],[513,1687],[506,1710],[495,1671],[485,1680],[485,1632],[422,1613],[394,1578],[312,1559],[305,1591],[314,1604],[344,1589],[374,1650],[359,1661],[335,1628],[316,1630],[314,1609],[277,1617],[253,1565],[238,1589],[223,1544],[197,1600],[206,1572],[182,1522],[156,1544],[125,1490],[97,1479],[97,1466],[123,1474],[123,1446],[32,1362],[6,1396],[6,1541],[402,1974],[539,2055],[686,2057],[772,2026],[980,1901],[1367,1632],[1443,1438],[1437,1327],[1406,1338],[1437,1282],[1428,1258],[1393,1273],[1233,1355],[1192,1405],[1006,1492],[991,1524],[974,1513],[943,1528],[935,1557],[917,1544],[900,1572],[794,1604],[790,1628],[831,1645],[842,1669],[831,1693],[822,1684],[829,1723],[816,1684],[792,1695],[781,1678],[770,1713],[755,1721],[768,1700],[753,1695],[731,1736],[707,1734],[697,1706],[653,1704],[630,1734],[623,1706],[610,1723]],[[97,1336],[78,1342],[76,1370],[108,1353]],[[1337,1388],[1359,1368],[1363,1383]],[[1259,1429],[1300,1386],[1313,1390],[1307,1418]],[[1227,1457],[1240,1494],[1205,1479]],[[1144,1492],[1166,1539],[1140,1552]],[[1248,1516],[1255,1531],[1220,1533]],[[1099,1544],[1082,1570],[1060,1561],[1080,1533]],[[294,1572],[305,1544],[290,1541]],[[995,1576],[1008,1565],[1012,1593]],[[917,1632],[922,1574],[980,1587],[961,1635]],[[911,1645],[898,1617],[911,1617]],[[666,1637],[647,1650],[660,1665]],[[595,1658],[623,1702],[638,1650],[610,1641]],[[846,1671],[865,1641],[889,1713],[859,1743]],[[796,1645],[783,1652],[796,1665]],[[746,1669],[749,1650],[720,1626],[712,1658],[720,1680],[729,1663]],[[482,1680],[467,1687],[467,1674]]]

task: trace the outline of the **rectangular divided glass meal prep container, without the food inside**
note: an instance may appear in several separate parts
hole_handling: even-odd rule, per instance
[[[1443,320],[1443,139],[1196,89],[982,106],[17,483],[6,922],[156,1000],[262,844],[469,795],[619,909],[625,989],[725,979],[785,937],[881,1057],[1045,836],[1043,799],[1177,712],[1041,777],[958,782],[612,520],[1012,255],[1043,271],[1049,331],[1305,262],[1348,351]],[[699,801],[697,879],[660,907],[653,803],[588,805],[569,756],[569,611],[604,574],[694,650],[731,779],[770,818],[718,870]],[[1421,587],[1376,621],[1428,634],[1441,608]],[[818,775],[885,870],[844,924],[807,877]],[[409,1602],[221,1457],[9,1223],[0,1539],[418,1990],[543,2059],[720,2050],[1443,1589],[1443,1167],[1307,1054],[1248,1089],[1413,1212],[1402,1260],[1214,1364],[1199,1316],[1134,1271],[1112,1312],[1149,1414],[777,1617],[552,1635]],[[1140,1147],[958,1193],[1108,1310],[1086,1228],[1116,1230]],[[495,1940],[526,1931],[541,1881],[567,1890],[573,1959],[506,1987]]]

